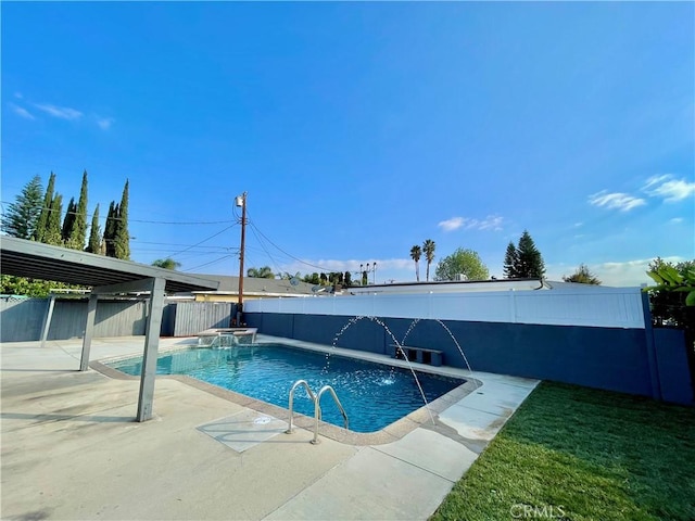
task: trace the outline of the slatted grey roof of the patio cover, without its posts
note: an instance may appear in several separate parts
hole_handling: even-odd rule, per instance
[[[219,281],[202,276],[9,236],[0,237],[0,272],[92,288],[113,284],[136,287],[138,281],[152,278],[165,279],[167,292],[215,290],[219,285]]]

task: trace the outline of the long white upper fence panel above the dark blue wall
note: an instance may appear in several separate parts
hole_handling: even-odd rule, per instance
[[[262,298],[248,301],[245,312],[644,328],[640,288],[595,290]]]

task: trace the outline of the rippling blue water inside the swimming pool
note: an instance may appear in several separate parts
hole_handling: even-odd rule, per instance
[[[140,374],[142,358],[110,364],[127,374]],[[186,374],[263,402],[288,407],[296,380],[306,380],[314,392],[331,385],[350,419],[350,430],[376,432],[425,405],[408,369],[326,355],[280,344],[240,345],[215,350],[194,347],[161,354],[157,374]],[[465,381],[417,372],[428,403]],[[324,421],[343,427],[343,418],[328,396],[321,397]],[[294,393],[294,410],[314,416],[303,387]]]

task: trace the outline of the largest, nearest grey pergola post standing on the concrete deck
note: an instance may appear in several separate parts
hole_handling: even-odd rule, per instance
[[[142,355],[142,372],[140,376],[140,394],[138,395],[137,421],[152,418],[154,402],[154,380],[156,378],[156,358],[160,347],[160,331],[162,329],[162,313],[164,310],[165,279],[151,279],[150,313],[144,333],[144,353]]]

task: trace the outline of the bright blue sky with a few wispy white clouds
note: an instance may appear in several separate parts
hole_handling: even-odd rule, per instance
[[[409,281],[527,229],[547,277],[695,258],[692,2],[2,2],[2,207],[36,174],[131,258]],[[425,263],[420,263],[425,278]]]

